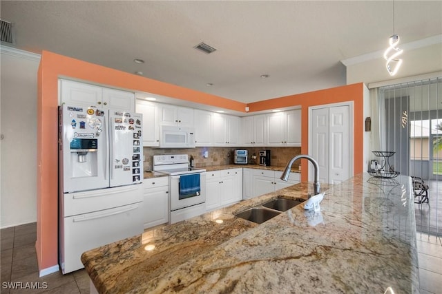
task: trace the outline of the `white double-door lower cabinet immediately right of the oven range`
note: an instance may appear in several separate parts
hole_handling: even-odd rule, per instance
[[[206,173],[206,211],[242,200],[242,169]]]

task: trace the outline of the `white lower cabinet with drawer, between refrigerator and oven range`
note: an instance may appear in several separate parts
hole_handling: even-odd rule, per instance
[[[169,222],[169,177],[145,179],[143,186],[144,229]]]

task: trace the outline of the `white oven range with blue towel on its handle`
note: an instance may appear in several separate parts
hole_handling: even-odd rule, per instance
[[[206,170],[189,168],[187,154],[153,156],[153,171],[169,174],[169,223],[206,212]]]

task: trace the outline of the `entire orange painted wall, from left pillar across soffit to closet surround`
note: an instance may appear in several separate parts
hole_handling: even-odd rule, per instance
[[[150,78],[135,76],[108,67],[102,67],[52,52],[41,54],[38,72],[38,133],[37,133],[37,258],[39,270],[58,264],[58,191],[57,191],[57,106],[58,78],[74,78],[91,83],[108,85],[169,96],[195,103],[213,105],[244,112],[245,104],[227,98],[205,94]],[[269,101],[249,104],[250,112],[291,105],[302,105],[302,141],[307,142],[308,106],[354,101],[355,110],[355,174],[362,171],[362,93],[363,84],[338,87]],[[361,122],[361,123],[356,123]],[[302,146],[302,152],[308,146]],[[356,163],[360,162],[360,163]],[[303,167],[307,169],[307,167]],[[303,169],[304,170],[304,169]],[[303,172],[303,174],[305,174]],[[304,176],[304,175],[303,175]],[[307,179],[307,174],[305,179]]]

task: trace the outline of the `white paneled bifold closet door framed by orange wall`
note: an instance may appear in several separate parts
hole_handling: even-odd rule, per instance
[[[318,161],[319,181],[338,184],[347,180],[353,174],[351,103],[311,107],[310,116],[309,154]]]

